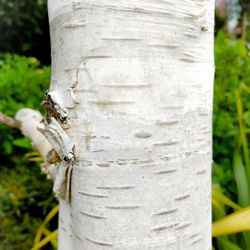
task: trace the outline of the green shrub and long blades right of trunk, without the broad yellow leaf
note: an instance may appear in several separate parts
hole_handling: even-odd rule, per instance
[[[223,33],[215,39],[216,75],[213,113],[213,186],[240,207],[250,204],[250,57],[241,39]],[[213,219],[231,214],[232,207],[213,204]],[[250,249],[250,234],[214,239],[215,249]]]

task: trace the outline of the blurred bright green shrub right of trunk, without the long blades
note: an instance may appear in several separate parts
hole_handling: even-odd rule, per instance
[[[213,109],[214,180],[236,195],[232,173],[233,152],[239,139],[236,90],[241,92],[244,120],[250,125],[250,58],[241,39],[232,41],[223,33],[215,39],[215,83]]]

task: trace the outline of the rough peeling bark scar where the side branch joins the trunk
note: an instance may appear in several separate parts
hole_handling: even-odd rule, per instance
[[[42,102],[46,110],[43,122],[37,128],[50,142],[52,150],[47,154],[48,171],[53,172],[53,191],[58,198],[70,201],[71,176],[75,161],[74,144],[65,132],[69,128],[67,112],[55,92],[48,92]]]

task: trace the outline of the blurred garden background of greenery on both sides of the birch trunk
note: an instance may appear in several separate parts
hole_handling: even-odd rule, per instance
[[[219,225],[215,236],[224,235],[213,238],[218,250],[250,249],[250,233],[241,232],[250,230],[249,31],[249,0],[216,1],[213,221],[248,212],[245,224],[234,218],[230,233],[237,233],[224,232],[227,221]],[[49,81],[46,0],[0,0],[0,112],[43,112]],[[56,237],[48,237],[57,228],[57,200],[41,163],[28,139],[0,124],[0,250],[56,249]]]

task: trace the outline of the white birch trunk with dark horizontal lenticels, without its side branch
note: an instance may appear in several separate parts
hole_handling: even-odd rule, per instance
[[[211,249],[214,1],[48,2],[59,249]]]

